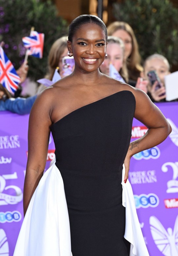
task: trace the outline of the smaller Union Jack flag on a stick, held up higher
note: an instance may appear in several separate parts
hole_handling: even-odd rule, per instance
[[[28,55],[32,55],[40,59],[43,57],[44,37],[45,35],[43,33],[31,31],[30,36],[22,38],[22,42],[24,47],[27,49]]]

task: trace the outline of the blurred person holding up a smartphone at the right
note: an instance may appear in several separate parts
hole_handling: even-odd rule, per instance
[[[144,70],[140,73],[140,76],[148,80],[148,96],[153,102],[165,101],[164,76],[170,74],[168,60],[163,55],[153,54],[145,60],[143,68]],[[150,71],[155,71],[154,83],[154,79],[149,75]]]

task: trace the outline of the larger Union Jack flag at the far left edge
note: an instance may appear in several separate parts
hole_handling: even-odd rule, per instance
[[[0,47],[0,83],[11,93],[14,94],[20,83],[20,77],[17,75],[11,61]]]

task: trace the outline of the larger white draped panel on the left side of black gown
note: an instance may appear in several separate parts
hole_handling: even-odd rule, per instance
[[[32,196],[14,251],[14,256],[49,255],[72,255],[64,184],[55,160]]]

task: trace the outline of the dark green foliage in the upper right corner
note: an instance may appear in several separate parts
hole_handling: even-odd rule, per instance
[[[133,28],[143,60],[159,53],[170,64],[178,64],[178,9],[169,0],[126,0],[113,5],[116,20]]]

